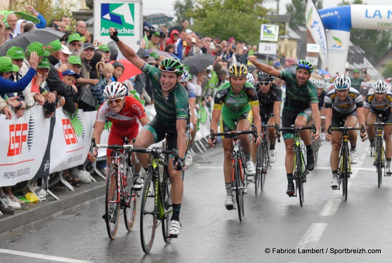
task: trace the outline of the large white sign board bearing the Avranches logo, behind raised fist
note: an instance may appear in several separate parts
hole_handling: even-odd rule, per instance
[[[142,1],[94,0],[94,38],[103,43],[111,40],[109,28],[118,29],[118,37],[134,50],[143,37]]]

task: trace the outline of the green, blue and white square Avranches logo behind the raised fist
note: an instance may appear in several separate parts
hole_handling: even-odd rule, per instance
[[[134,36],[134,4],[101,4],[101,35],[109,36],[109,28],[116,27],[119,36]]]

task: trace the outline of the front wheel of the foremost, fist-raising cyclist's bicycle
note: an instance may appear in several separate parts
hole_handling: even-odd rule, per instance
[[[155,206],[155,179],[149,173],[143,188],[142,205],[140,207],[140,240],[144,253],[149,253],[154,242],[158,221]]]

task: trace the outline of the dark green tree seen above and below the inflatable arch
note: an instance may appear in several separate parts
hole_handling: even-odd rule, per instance
[[[338,5],[366,4],[362,0],[354,0],[351,3],[343,0]],[[350,30],[350,41],[365,51],[365,57],[370,63],[375,64],[389,48],[392,33],[388,30],[356,29]]]

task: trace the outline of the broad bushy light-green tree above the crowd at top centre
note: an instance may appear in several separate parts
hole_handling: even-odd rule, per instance
[[[263,0],[199,0],[186,15],[193,18],[192,30],[204,36],[260,42],[260,28],[267,23]]]

